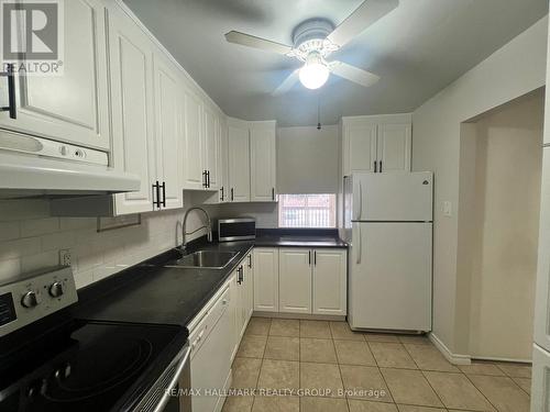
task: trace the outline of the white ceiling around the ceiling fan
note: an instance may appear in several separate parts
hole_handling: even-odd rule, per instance
[[[409,112],[548,13],[547,0],[400,0],[333,55],[382,77],[363,88],[331,76],[320,91],[297,83],[270,93],[299,63],[229,44],[237,30],[292,44],[311,18],[334,24],[362,0],[124,0],[229,115],[279,125],[334,124],[342,115]]]

